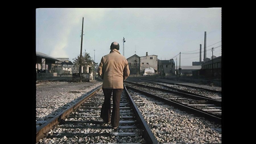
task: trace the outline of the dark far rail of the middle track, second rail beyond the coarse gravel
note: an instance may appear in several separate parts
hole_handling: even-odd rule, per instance
[[[197,100],[207,100],[207,101],[209,101],[209,102],[211,102],[211,103],[213,103],[215,105],[221,106],[221,101],[220,100],[210,99],[209,97],[201,97],[201,96],[197,96],[197,95],[191,95],[191,94],[182,93],[182,92],[178,92],[178,91],[171,91],[171,90],[168,90],[168,89],[152,87],[152,86],[149,86],[149,85],[143,85],[143,84],[138,84],[138,83],[129,82],[129,81],[125,81],[125,82],[131,83],[131,84],[135,84],[135,85],[139,85],[139,86],[143,86],[143,87],[149,87],[149,88],[152,88],[152,89],[157,89],[157,90],[160,90],[160,91],[166,91],[168,93],[175,93],[175,94],[187,97],[187,98],[193,98],[193,99],[197,99]]]

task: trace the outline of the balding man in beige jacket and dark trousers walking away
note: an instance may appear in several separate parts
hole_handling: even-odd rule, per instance
[[[102,57],[98,68],[98,76],[102,78],[102,90],[104,103],[101,108],[100,117],[104,122],[109,123],[111,114],[111,94],[113,92],[113,110],[111,114],[111,125],[114,130],[119,126],[120,120],[120,99],[123,91],[123,81],[130,74],[128,62],[120,54],[119,44],[111,43],[110,53]]]

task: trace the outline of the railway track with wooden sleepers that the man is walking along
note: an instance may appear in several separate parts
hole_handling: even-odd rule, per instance
[[[109,142],[108,138],[119,143],[158,143],[137,108],[144,105],[143,101],[135,101],[139,103],[136,105],[124,89],[120,101],[119,128],[112,131],[111,125],[104,123],[100,118],[104,95],[101,87],[97,87],[86,97],[38,127],[36,142],[42,143],[40,139],[46,137],[58,143],[67,141],[66,138],[69,138],[71,143],[106,143]],[[51,131],[48,132],[49,130]]]

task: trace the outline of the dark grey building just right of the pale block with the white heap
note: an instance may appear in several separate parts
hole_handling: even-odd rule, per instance
[[[158,72],[161,76],[175,76],[175,62],[173,59],[170,60],[159,60],[158,59]]]

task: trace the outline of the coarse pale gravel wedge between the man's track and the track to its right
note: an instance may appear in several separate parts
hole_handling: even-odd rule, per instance
[[[221,143],[221,134],[212,130],[221,125],[169,105],[157,105],[155,102],[160,101],[139,93],[132,97],[144,101],[139,110],[159,143]]]

